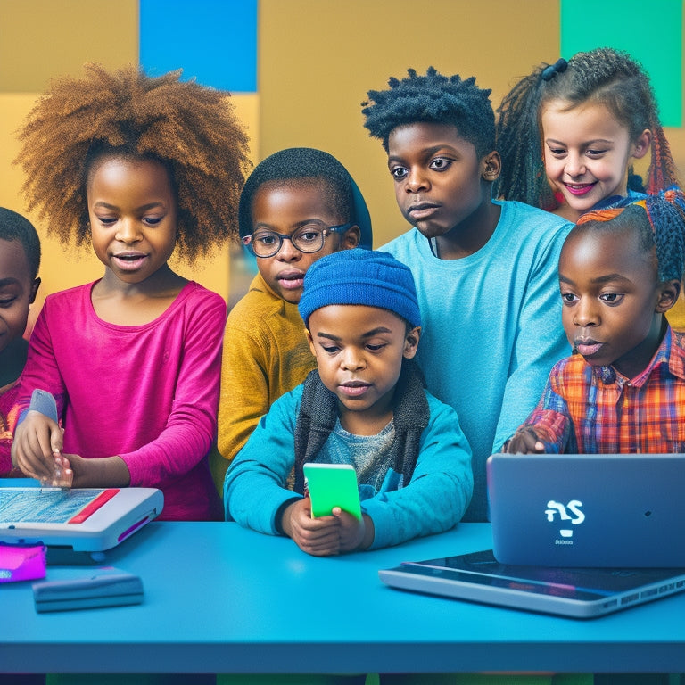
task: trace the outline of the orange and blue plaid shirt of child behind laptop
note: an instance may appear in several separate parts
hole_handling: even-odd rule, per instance
[[[580,354],[557,362],[525,422],[545,451],[685,452],[685,336],[669,329],[634,378],[592,367]]]

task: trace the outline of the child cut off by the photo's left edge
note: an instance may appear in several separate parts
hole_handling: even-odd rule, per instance
[[[40,278],[40,239],[29,219],[0,207],[0,476],[23,475],[12,469],[13,411],[17,379],[26,363],[24,339],[29,307]]]

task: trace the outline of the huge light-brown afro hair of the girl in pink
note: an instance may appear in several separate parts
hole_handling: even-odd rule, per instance
[[[169,170],[177,195],[177,253],[193,262],[237,239],[238,199],[250,169],[248,138],[226,91],[146,76],[130,65],[85,65],[83,78],[54,79],[21,129],[23,190],[48,231],[87,243],[87,182],[104,157],[150,159]]]

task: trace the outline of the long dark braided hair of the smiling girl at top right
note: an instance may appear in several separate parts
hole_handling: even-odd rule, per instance
[[[568,62],[543,62],[505,95],[497,112],[497,148],[502,172],[493,192],[506,200],[553,210],[557,201],[549,186],[542,155],[541,111],[551,100],[564,100],[568,110],[582,103],[607,107],[636,140],[652,133],[646,184],[629,169],[628,188],[648,194],[678,185],[673,156],[659,122],[656,97],[647,72],[627,53],[603,47],[575,54]]]

